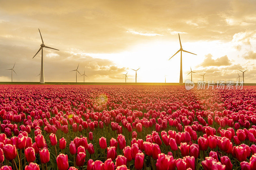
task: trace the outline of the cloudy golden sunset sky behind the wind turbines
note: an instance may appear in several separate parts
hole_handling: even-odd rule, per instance
[[[0,0],[0,81],[39,81],[42,43],[44,80],[75,82],[236,81],[256,78],[254,0]],[[33,59],[32,59],[33,58]],[[239,70],[237,70],[239,69]],[[238,74],[237,74],[238,73]],[[187,76],[188,75],[188,76]],[[242,79],[242,78],[240,78]],[[78,82],[83,82],[78,73]]]

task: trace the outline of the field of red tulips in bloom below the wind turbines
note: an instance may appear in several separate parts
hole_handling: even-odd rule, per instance
[[[253,170],[256,87],[1,85],[1,170]]]

